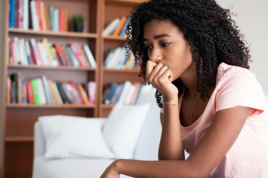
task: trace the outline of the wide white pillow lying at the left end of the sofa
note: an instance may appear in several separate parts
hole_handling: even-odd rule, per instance
[[[46,139],[47,158],[115,158],[107,147],[102,125],[106,119],[53,115],[38,118]]]

